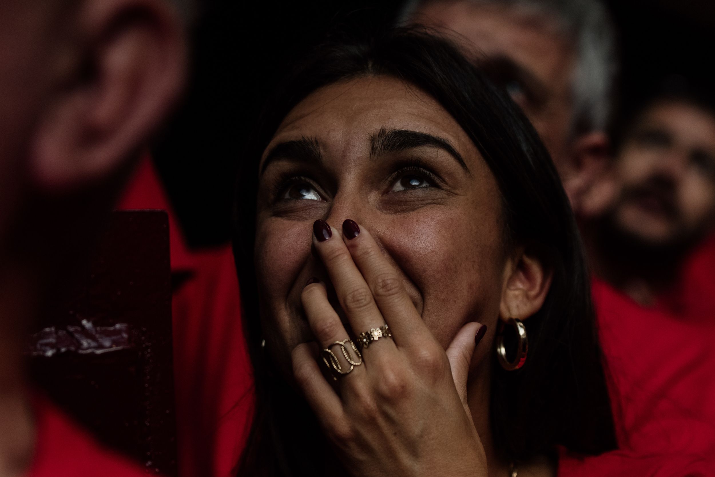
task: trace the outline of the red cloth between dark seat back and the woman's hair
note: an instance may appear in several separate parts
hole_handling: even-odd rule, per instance
[[[252,370],[230,247],[197,257],[194,277],[174,292],[174,368],[182,476],[227,477],[250,428]],[[212,449],[213,448],[213,449]]]

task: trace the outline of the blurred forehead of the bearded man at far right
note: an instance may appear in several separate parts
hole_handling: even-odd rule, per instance
[[[638,124],[666,127],[683,141],[715,149],[715,117],[685,102],[656,103],[641,116]]]

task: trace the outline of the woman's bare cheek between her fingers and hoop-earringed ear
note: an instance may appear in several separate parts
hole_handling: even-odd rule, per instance
[[[421,305],[425,324],[443,346],[468,321],[495,324],[502,247],[493,213],[434,208],[390,220],[384,230],[383,246],[418,288],[418,310]]]

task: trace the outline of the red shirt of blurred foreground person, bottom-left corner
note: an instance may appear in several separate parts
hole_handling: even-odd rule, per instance
[[[142,477],[147,474],[95,443],[44,399],[34,402],[35,457],[26,477]]]

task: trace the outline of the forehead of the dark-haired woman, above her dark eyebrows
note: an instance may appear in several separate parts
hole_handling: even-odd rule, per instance
[[[453,117],[432,97],[392,77],[360,77],[310,94],[285,117],[271,144],[317,137],[337,154],[364,149],[380,128],[410,129],[447,139],[461,152],[476,152]]]

